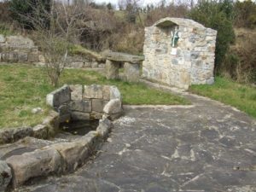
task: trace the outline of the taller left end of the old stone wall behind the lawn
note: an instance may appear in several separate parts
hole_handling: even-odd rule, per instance
[[[38,47],[30,38],[22,36],[3,37],[0,34],[0,61],[33,63],[39,61]]]

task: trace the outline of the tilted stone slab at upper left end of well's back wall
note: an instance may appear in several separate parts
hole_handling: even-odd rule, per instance
[[[70,101],[71,94],[67,84],[61,88],[54,90],[46,96],[46,102],[51,107],[59,107],[61,104]]]

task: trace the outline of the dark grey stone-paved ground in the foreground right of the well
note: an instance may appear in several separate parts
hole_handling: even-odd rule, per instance
[[[193,105],[126,106],[95,160],[16,191],[256,191],[255,121],[219,102],[183,96]]]

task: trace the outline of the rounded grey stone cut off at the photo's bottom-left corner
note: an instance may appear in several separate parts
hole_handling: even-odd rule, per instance
[[[0,160],[0,191],[5,191],[12,179],[12,172],[7,163]]]

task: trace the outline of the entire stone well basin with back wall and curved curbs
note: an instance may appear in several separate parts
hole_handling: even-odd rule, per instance
[[[42,125],[0,131],[0,191],[34,177],[74,172],[102,146],[123,110],[119,90],[110,85],[64,85],[47,95],[55,109]],[[60,132],[60,124],[99,120],[82,136]],[[45,140],[47,139],[47,140]]]

